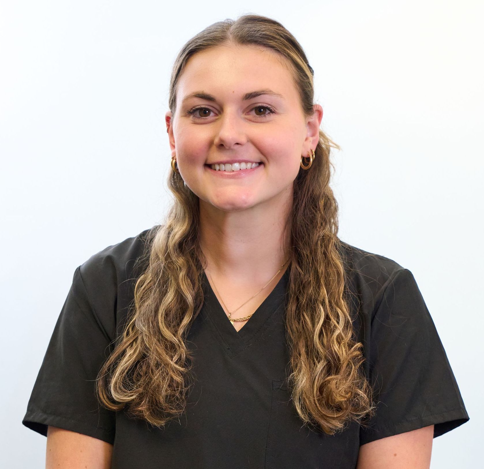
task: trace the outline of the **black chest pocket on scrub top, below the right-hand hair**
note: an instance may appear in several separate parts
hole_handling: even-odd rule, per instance
[[[266,469],[354,469],[359,441],[359,425],[354,422],[334,435],[310,430],[299,418],[286,384],[272,381]]]

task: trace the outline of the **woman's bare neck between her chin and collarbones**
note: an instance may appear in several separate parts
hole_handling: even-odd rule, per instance
[[[200,200],[200,247],[212,276],[258,284],[289,258],[289,207],[267,205],[227,212]],[[287,268],[284,265],[283,270]],[[267,280],[266,280],[267,281]]]

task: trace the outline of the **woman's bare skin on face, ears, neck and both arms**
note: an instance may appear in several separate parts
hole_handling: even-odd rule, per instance
[[[267,89],[282,97],[242,100],[244,93]],[[209,93],[215,101],[184,101],[195,91]],[[253,46],[224,45],[191,57],[180,78],[177,103],[174,114],[166,113],[171,154],[185,184],[199,197],[206,272],[219,301],[233,311],[287,259],[283,221],[292,203],[292,183],[302,170],[301,157],[318,144],[323,111],[316,104],[313,114],[304,116],[287,63]],[[206,109],[198,111],[199,120],[187,113],[195,106]],[[260,106],[271,107],[274,114]],[[205,167],[234,157],[263,166],[249,177],[230,179]],[[283,273],[233,317],[253,313]],[[432,437],[433,425],[367,443],[360,448],[357,469],[428,469]],[[111,466],[111,444],[68,430],[49,426],[46,449],[48,469]]]

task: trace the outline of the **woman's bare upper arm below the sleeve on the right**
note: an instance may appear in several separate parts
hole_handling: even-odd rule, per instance
[[[434,425],[366,443],[356,469],[429,469]]]

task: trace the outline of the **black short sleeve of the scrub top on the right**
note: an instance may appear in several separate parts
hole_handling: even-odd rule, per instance
[[[434,322],[413,274],[393,274],[371,318],[369,376],[376,414],[360,445],[429,425],[434,438],[469,420]]]

